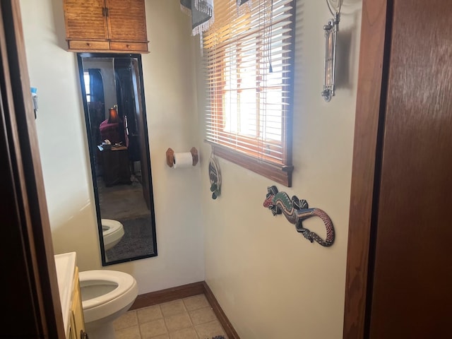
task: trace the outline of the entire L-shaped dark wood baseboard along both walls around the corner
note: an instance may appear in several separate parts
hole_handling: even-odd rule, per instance
[[[164,302],[172,302],[173,300],[193,297],[194,295],[206,295],[215,316],[217,316],[218,321],[220,321],[222,328],[225,330],[227,338],[240,339],[239,335],[234,330],[234,327],[232,327],[232,323],[227,319],[225,312],[220,307],[215,295],[213,295],[212,290],[210,290],[210,287],[205,281],[138,295],[129,310],[141,309],[143,307],[162,304]]]

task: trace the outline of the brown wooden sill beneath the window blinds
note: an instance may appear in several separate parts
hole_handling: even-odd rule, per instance
[[[218,157],[234,162],[234,164],[242,166],[250,171],[262,175],[268,179],[283,184],[284,186],[292,186],[293,166],[277,165],[263,160],[258,160],[244,153],[239,153],[220,145],[212,145],[213,152]]]

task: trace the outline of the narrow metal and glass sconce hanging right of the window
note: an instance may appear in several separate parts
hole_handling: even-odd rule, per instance
[[[338,38],[340,13],[323,25],[325,31],[325,76],[323,78],[322,97],[326,102],[331,100],[335,90],[336,40]]]

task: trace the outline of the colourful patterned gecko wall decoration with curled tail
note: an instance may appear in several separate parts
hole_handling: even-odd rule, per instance
[[[271,210],[273,215],[283,213],[285,218],[295,225],[297,232],[302,233],[310,242],[316,241],[326,247],[334,243],[334,227],[330,217],[320,208],[309,208],[306,200],[299,200],[297,196],[292,196],[291,199],[287,193],[278,192],[276,186],[270,186],[267,188],[267,196],[266,200],[263,201],[263,207]],[[311,217],[319,217],[323,221],[326,227],[325,240],[319,237],[319,234],[311,232],[302,226],[302,221]]]

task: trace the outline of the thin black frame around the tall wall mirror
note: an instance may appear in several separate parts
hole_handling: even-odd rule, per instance
[[[139,76],[139,93],[141,94],[141,107],[143,108],[142,112],[142,119],[143,119],[143,133],[145,142],[145,153],[146,153],[146,161],[148,163],[148,166],[146,168],[148,169],[147,173],[143,173],[142,175],[147,175],[149,179],[149,202],[150,202],[150,220],[151,225],[149,227],[152,228],[152,235],[153,235],[153,254],[146,254],[143,256],[133,256],[131,258],[124,258],[121,260],[115,260],[115,261],[106,261],[105,256],[105,246],[104,246],[104,239],[102,236],[102,222],[101,222],[101,215],[100,215],[100,204],[99,204],[99,191],[97,188],[97,174],[96,169],[93,166],[95,163],[95,153],[93,152],[93,138],[91,136],[91,121],[90,121],[90,114],[88,111],[88,101],[86,100],[86,91],[85,91],[85,80],[83,77],[83,58],[136,58],[138,59],[138,76]],[[96,217],[97,217],[97,231],[99,236],[99,243],[100,243],[100,256],[102,258],[102,266],[109,266],[113,265],[115,263],[125,263],[133,260],[143,259],[143,258],[151,258],[154,256],[157,256],[157,236],[156,236],[156,225],[155,225],[155,208],[154,208],[154,198],[153,198],[153,180],[151,175],[151,169],[150,169],[150,148],[149,148],[149,134],[148,134],[148,121],[147,121],[147,114],[146,114],[146,107],[145,107],[145,97],[144,97],[144,85],[143,85],[143,65],[141,61],[141,54],[117,54],[117,53],[89,53],[89,52],[83,52],[83,53],[77,53],[77,62],[78,62],[78,75],[80,77],[80,85],[81,85],[81,95],[83,100],[83,109],[85,111],[85,127],[86,127],[86,134],[87,134],[87,140],[88,140],[88,151],[90,154],[90,167],[91,167],[91,175],[93,179],[93,191],[94,191],[94,198],[95,198],[95,208],[96,208]]]

